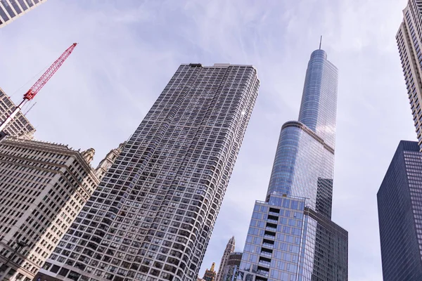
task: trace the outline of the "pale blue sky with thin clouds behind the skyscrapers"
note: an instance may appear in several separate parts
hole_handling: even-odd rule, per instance
[[[309,55],[339,69],[333,221],[349,231],[349,280],[381,281],[376,192],[399,140],[416,140],[395,34],[405,0],[49,0],[0,29],[0,87],[18,102],[73,42],[35,98],[36,138],[95,148],[129,138],[181,63],[252,64],[261,80],[200,274],[245,241],[281,125],[297,119]],[[41,72],[41,73],[40,73]],[[38,75],[38,76],[37,76]]]

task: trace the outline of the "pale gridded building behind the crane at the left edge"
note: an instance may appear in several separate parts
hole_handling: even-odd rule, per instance
[[[0,124],[11,115],[15,108],[15,103],[13,103],[11,98],[9,98],[0,88]],[[4,132],[8,136],[19,136],[20,138],[32,139],[35,128],[22,112],[18,112],[13,121],[4,129]]]

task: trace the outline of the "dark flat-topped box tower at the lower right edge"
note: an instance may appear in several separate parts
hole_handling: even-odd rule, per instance
[[[422,152],[400,141],[377,193],[383,280],[422,280]]]

